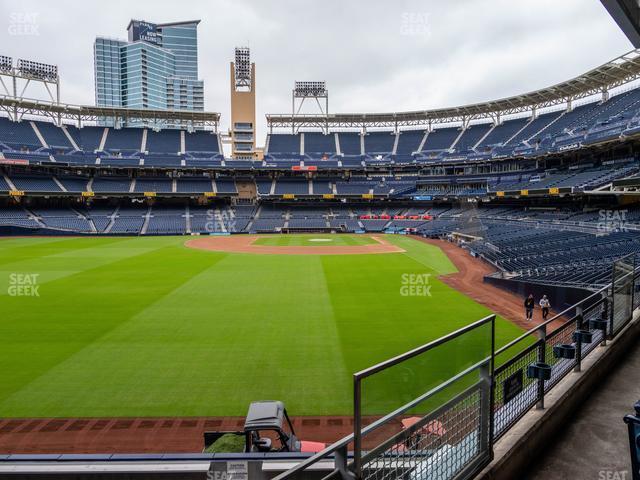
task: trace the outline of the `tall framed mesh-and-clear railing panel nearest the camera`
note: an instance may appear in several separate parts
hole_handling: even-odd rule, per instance
[[[486,339],[469,337],[477,332],[482,337],[485,328]],[[379,363],[354,375],[354,462],[352,471],[356,478],[377,480],[379,478],[401,478],[411,471],[414,478],[455,478],[470,465],[477,465],[490,459],[491,444],[491,379],[493,377],[493,354],[495,338],[495,315],[485,317],[422,347]],[[411,390],[404,392],[398,386],[396,395],[406,394],[410,401],[395,408],[391,413],[374,421],[365,429],[363,410],[366,408],[367,382],[381,377],[385,380],[396,378],[399,367],[420,368],[435,360],[429,353],[438,353],[438,349],[454,341],[467,341],[482,344],[486,340],[486,352],[472,365],[462,367],[448,380],[427,390],[420,391],[420,379],[414,378]],[[488,354],[488,355],[487,355]],[[453,362],[454,359],[452,358]],[[413,362],[410,364],[409,362]],[[424,379],[423,379],[424,380]],[[387,383],[384,382],[385,386]],[[417,384],[417,385],[416,385]],[[417,389],[415,387],[418,387]],[[371,390],[375,390],[371,389]],[[377,393],[377,392],[376,392]],[[371,395],[371,396],[375,396]],[[430,400],[441,403],[437,407],[429,405]],[[379,407],[378,407],[379,408]],[[407,415],[413,413],[414,416]],[[392,430],[384,440],[366,452],[362,451],[363,439],[377,430],[382,430],[403,420],[412,422],[404,428]]]

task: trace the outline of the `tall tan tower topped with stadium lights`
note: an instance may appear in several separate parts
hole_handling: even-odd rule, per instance
[[[231,150],[233,158],[258,158],[256,151],[256,65],[248,47],[236,47],[231,62]]]

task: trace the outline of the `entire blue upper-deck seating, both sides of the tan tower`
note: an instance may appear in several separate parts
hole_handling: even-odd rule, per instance
[[[364,135],[359,131],[272,133],[267,137],[264,162],[248,165],[225,160],[218,134],[210,131],[66,125],[65,133],[44,120],[13,122],[4,117],[0,117],[0,151],[12,160],[43,163],[53,156],[56,162],[76,166],[287,169],[304,161],[308,162],[304,166],[337,170],[531,157],[640,133],[640,88],[614,91],[604,102],[596,96],[582,101],[587,103],[578,102],[569,110],[548,107],[535,118],[506,116],[497,125],[474,120],[479,123],[463,130],[462,122],[435,124],[428,135],[420,128]]]

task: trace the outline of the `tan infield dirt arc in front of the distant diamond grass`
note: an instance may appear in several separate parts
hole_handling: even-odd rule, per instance
[[[230,235],[225,237],[202,237],[188,240],[185,245],[189,248],[212,250],[215,252],[255,253],[260,255],[365,255],[372,253],[403,253],[396,245],[387,242],[383,237],[370,235],[376,243],[368,245],[344,246],[271,246],[256,245],[258,235]]]

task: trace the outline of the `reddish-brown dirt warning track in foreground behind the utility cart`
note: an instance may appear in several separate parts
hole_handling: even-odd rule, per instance
[[[372,419],[363,418],[364,423]],[[292,417],[299,438],[332,443],[353,433],[353,418],[346,416]],[[241,431],[244,417],[182,418],[56,418],[0,420],[0,455],[11,453],[197,453],[203,433]],[[402,428],[391,422],[371,435],[373,447],[390,432]]]

